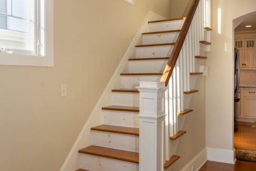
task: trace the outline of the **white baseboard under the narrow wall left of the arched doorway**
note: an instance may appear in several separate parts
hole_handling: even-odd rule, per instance
[[[235,149],[218,149],[207,147],[207,159],[208,161],[221,162],[234,164],[236,161]]]

